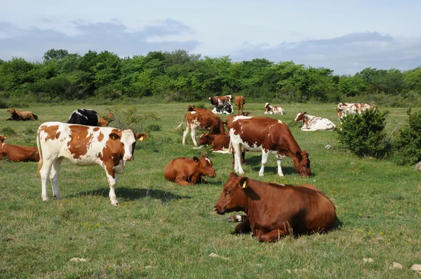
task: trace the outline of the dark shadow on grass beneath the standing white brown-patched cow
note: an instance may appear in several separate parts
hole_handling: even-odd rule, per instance
[[[156,198],[161,202],[166,203],[170,200],[181,200],[192,198],[191,196],[180,196],[175,193],[168,191],[156,190],[156,189],[131,189],[131,188],[116,188],[117,199],[122,201],[138,200],[140,198]],[[109,188],[99,188],[87,191],[81,191],[70,195],[69,197],[74,198],[77,196],[109,196]]]

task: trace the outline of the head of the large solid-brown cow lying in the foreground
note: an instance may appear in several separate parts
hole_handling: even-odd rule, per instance
[[[235,172],[231,172],[224,189],[213,207],[213,211],[223,215],[234,211],[243,211],[246,207],[246,189],[248,188],[248,178],[239,177]]]

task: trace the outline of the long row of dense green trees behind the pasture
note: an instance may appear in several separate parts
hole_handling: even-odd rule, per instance
[[[48,50],[42,62],[0,60],[0,98],[27,102],[150,97],[156,102],[203,101],[212,95],[244,95],[271,102],[374,102],[421,104],[421,67],[408,71],[366,68],[335,75],[328,68],[256,58],[201,57],[185,50],[119,57]],[[1,102],[1,100],[0,100]]]

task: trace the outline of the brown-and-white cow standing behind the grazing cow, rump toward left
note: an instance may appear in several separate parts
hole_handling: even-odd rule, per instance
[[[186,118],[186,130],[182,133],[182,145],[185,145],[186,143],[186,136],[189,130],[191,130],[190,136],[196,146],[196,129],[209,130],[210,134],[213,135],[225,135],[222,119],[211,113],[208,109],[194,108],[189,105],[189,107],[187,107],[187,114],[185,114],[185,117],[182,119],[182,123],[184,123]],[[180,128],[182,123],[180,123],[175,130]]]

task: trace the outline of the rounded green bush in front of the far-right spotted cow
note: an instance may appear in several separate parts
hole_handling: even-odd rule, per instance
[[[389,111],[368,109],[363,114],[348,114],[338,130],[338,140],[357,156],[385,158],[390,151],[386,137],[386,117]]]

